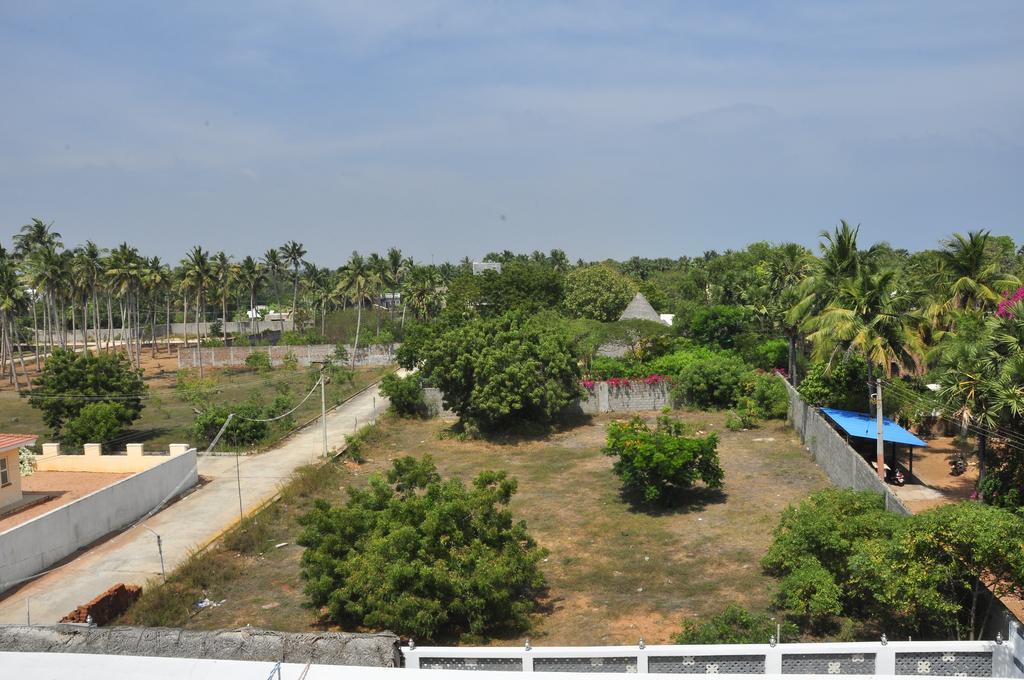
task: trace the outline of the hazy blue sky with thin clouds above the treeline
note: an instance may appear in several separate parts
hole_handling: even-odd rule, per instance
[[[1024,241],[1024,2],[0,0],[0,239]]]

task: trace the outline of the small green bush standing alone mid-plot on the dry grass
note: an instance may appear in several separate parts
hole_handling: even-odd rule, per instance
[[[628,492],[648,503],[667,504],[703,481],[721,488],[724,473],[718,461],[718,435],[690,437],[682,421],[659,416],[652,429],[639,416],[608,424],[606,456],[614,456],[615,474]]]

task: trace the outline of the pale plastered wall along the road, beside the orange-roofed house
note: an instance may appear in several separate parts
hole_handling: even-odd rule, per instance
[[[0,593],[128,526],[198,481],[191,449],[0,533]]]

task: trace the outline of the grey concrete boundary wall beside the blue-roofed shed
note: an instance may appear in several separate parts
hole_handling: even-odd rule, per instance
[[[800,398],[800,392],[788,382],[785,388],[790,393],[790,424],[833,483],[844,488],[882,494],[886,497],[887,510],[909,515],[910,510],[889,488],[889,484],[879,479],[864,457],[846,442],[825,417],[816,408],[805,403]]]

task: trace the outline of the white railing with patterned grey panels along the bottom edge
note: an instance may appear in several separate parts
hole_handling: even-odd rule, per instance
[[[606,647],[402,647],[406,668],[760,675],[1024,678],[1024,632],[984,641],[877,641]]]

